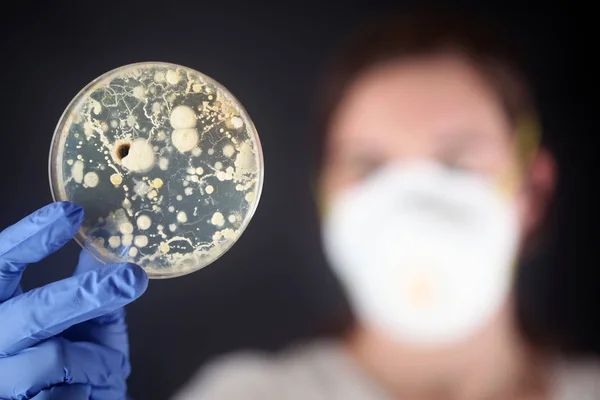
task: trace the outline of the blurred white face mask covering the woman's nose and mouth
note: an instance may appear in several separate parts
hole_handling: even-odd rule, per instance
[[[518,231],[514,201],[492,182],[399,162],[331,204],[323,240],[360,320],[439,344],[474,333],[502,305]]]

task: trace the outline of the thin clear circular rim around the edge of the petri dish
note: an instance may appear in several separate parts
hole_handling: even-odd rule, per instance
[[[50,184],[50,193],[52,195],[53,201],[55,201],[55,202],[56,201],[70,201],[67,198],[66,194],[64,196],[59,195],[59,193],[61,193],[61,187],[58,184],[58,177],[60,176],[60,174],[62,174],[62,163],[57,163],[57,162],[53,163],[53,161],[56,161],[59,159],[58,155],[60,154],[61,147],[58,144],[59,144],[59,142],[61,142],[61,139],[66,139],[65,135],[62,135],[62,132],[64,131],[63,128],[65,126],[65,123],[68,121],[68,119],[72,113],[73,107],[78,102],[80,102],[82,99],[85,98],[86,93],[91,92],[90,89],[92,87],[99,84],[100,82],[102,82],[103,80],[108,78],[109,76],[116,74],[118,71],[135,68],[137,66],[145,67],[145,66],[149,66],[149,65],[160,65],[160,66],[164,66],[167,68],[175,68],[175,69],[182,68],[184,70],[188,70],[192,73],[198,74],[203,79],[205,79],[207,82],[218,87],[227,96],[229,96],[233,101],[235,101],[237,107],[241,111],[241,114],[243,114],[245,121],[247,123],[249,123],[249,125],[251,127],[251,129],[249,129],[249,130],[251,132],[253,132],[251,139],[255,144],[256,157],[258,160],[258,164],[257,164],[258,171],[256,173],[257,182],[256,182],[256,189],[255,189],[255,198],[254,198],[254,201],[252,202],[252,204],[250,205],[250,207],[248,208],[248,211],[246,212],[246,215],[244,216],[242,224],[240,224],[240,227],[238,228],[238,234],[235,237],[235,239],[231,240],[229,243],[227,243],[227,245],[223,246],[223,251],[221,251],[218,255],[213,257],[211,262],[209,262],[208,264],[206,264],[204,266],[199,266],[196,268],[188,268],[188,269],[185,269],[182,271],[175,271],[175,272],[171,272],[171,273],[161,273],[161,272],[158,272],[155,270],[146,271],[148,274],[148,277],[150,279],[170,279],[170,278],[177,278],[177,277],[185,276],[185,275],[191,274],[193,272],[196,272],[200,269],[203,269],[203,268],[207,267],[208,265],[213,264],[219,258],[221,258],[225,253],[227,253],[233,247],[233,245],[235,245],[235,243],[237,243],[237,241],[240,239],[240,237],[246,231],[246,228],[248,227],[248,225],[250,224],[250,221],[254,217],[254,214],[256,212],[256,209],[258,208],[258,204],[259,204],[261,196],[262,196],[262,189],[263,189],[263,185],[264,185],[264,157],[263,157],[263,150],[262,150],[262,144],[260,141],[260,137],[258,135],[256,126],[254,125],[254,121],[250,118],[250,114],[248,113],[246,108],[243,106],[243,104],[238,100],[238,98],[235,97],[235,95],[233,95],[233,93],[231,93],[231,91],[229,91],[229,89],[227,89],[224,85],[222,85],[217,80],[211,78],[210,76],[207,76],[206,74],[203,74],[202,72],[199,72],[198,70],[196,70],[194,68],[186,67],[186,66],[171,63],[171,62],[164,62],[164,61],[140,61],[140,62],[125,64],[125,65],[122,65],[117,68],[113,68],[113,69],[103,73],[102,75],[96,77],[91,82],[89,82],[87,85],[85,85],[71,99],[71,101],[69,102],[69,104],[67,105],[67,107],[65,108],[63,113],[61,114],[61,116],[56,124],[56,127],[54,128],[54,133],[52,135],[52,140],[50,142],[50,151],[49,151],[49,155],[48,155],[48,178],[49,178],[48,181]],[[84,210],[84,212],[85,212],[85,210]],[[92,255],[92,257],[94,257],[95,259],[97,259],[98,261],[100,261],[103,264],[109,264],[109,263],[113,263],[113,262],[114,263],[124,262],[124,260],[118,259],[116,257],[114,259],[108,260],[106,256],[101,256],[100,253],[98,251],[96,251],[96,249],[89,244],[90,242],[88,241],[87,236],[85,235],[85,233],[83,232],[83,230],[81,228],[77,230],[77,233],[75,234],[75,237],[73,239],[79,246],[81,246],[82,249],[87,251],[90,255]]]

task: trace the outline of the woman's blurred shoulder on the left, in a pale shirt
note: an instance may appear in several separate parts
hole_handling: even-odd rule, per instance
[[[361,380],[340,343],[316,341],[276,354],[222,356],[199,371],[174,400],[377,399]]]

